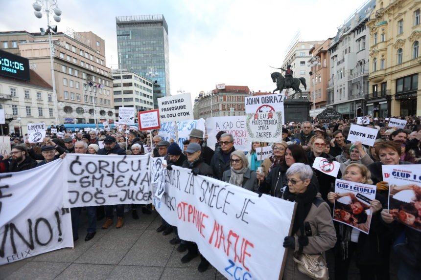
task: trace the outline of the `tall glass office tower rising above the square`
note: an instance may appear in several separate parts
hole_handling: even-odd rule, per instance
[[[153,78],[154,108],[157,98],[169,96],[168,25],[164,15],[116,17],[117,46],[121,68],[150,78],[146,73],[156,67]]]

